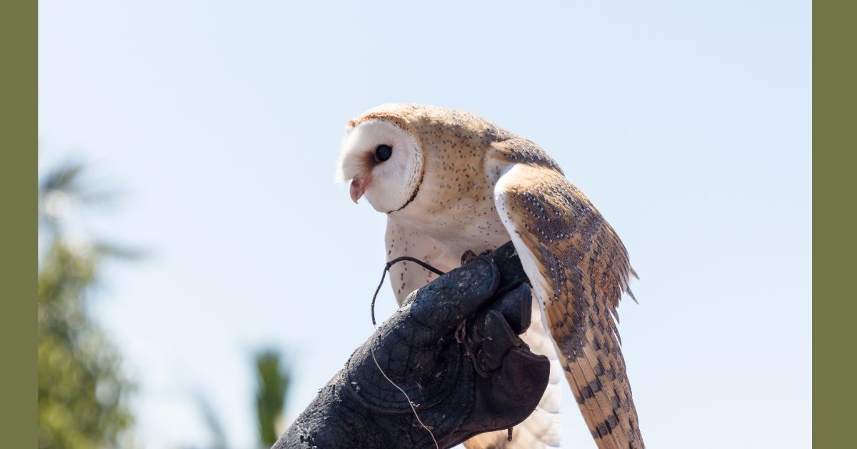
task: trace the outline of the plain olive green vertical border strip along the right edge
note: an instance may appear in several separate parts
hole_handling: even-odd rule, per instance
[[[819,0],[812,4],[812,444],[816,447],[853,446],[857,418],[855,20],[857,3]]]

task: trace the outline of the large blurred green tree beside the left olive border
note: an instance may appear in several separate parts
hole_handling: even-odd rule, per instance
[[[63,232],[71,205],[110,197],[87,190],[82,173],[80,164],[65,164],[39,185],[39,447],[123,446],[133,423],[135,385],[87,310],[105,259],[133,253]]]

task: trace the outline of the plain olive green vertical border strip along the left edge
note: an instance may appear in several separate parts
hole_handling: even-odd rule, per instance
[[[38,3],[0,2],[0,446],[35,447]]]

